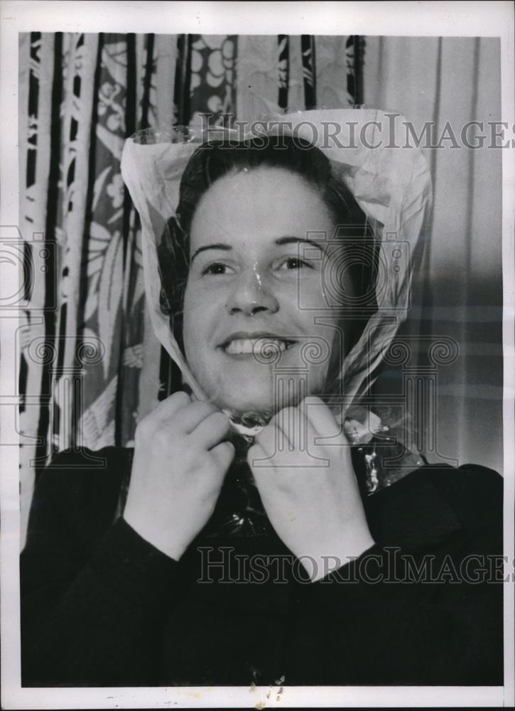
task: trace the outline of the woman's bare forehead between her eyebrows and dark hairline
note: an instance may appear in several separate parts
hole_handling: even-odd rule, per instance
[[[302,177],[260,167],[219,178],[202,196],[191,225],[191,240],[225,236],[305,237],[333,226],[319,191]],[[200,241],[199,241],[200,243]]]

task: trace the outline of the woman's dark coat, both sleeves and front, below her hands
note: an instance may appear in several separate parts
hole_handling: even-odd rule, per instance
[[[274,535],[156,550],[116,518],[131,456],[64,452],[40,476],[23,685],[502,685],[499,474],[423,466],[364,498],[376,545],[310,583]]]

